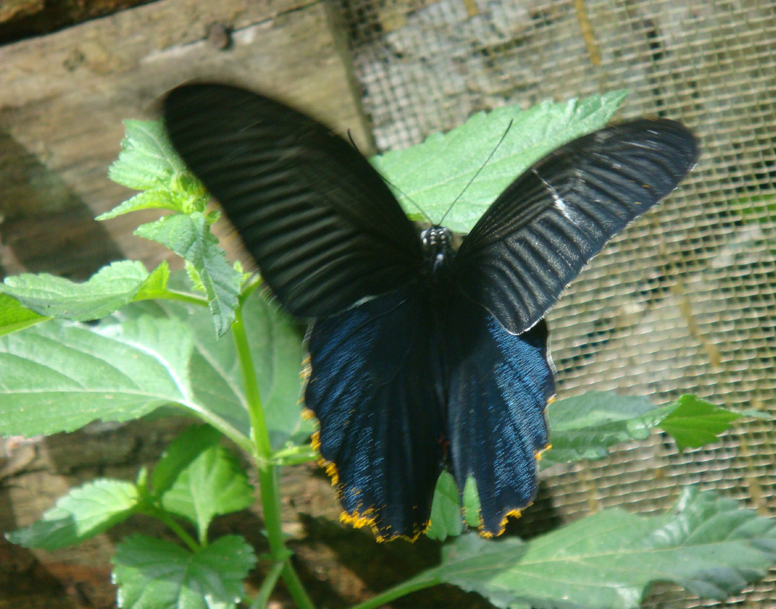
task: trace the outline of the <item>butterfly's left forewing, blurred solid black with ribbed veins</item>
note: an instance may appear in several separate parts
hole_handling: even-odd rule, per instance
[[[175,149],[291,313],[331,315],[417,273],[417,231],[369,162],[326,126],[225,85],[175,88],[163,112]]]

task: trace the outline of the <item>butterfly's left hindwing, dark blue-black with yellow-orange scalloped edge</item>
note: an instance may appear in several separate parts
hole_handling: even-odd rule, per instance
[[[310,331],[305,403],[320,428],[343,520],[378,538],[428,526],[442,471],[442,372],[431,311],[414,285],[378,296]]]

